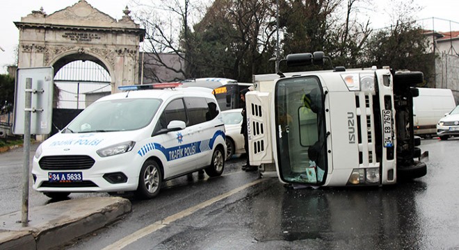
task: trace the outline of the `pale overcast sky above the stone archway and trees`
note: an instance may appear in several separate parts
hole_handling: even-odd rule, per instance
[[[122,17],[124,8],[129,7],[130,0],[86,0],[92,7],[110,15],[115,19]],[[151,1],[151,0],[145,0]],[[154,0],[159,1],[159,0]],[[193,0],[192,0],[193,1]],[[21,17],[29,15],[32,10],[40,10],[41,7],[50,15],[57,10],[72,6],[78,0],[15,0],[2,4],[0,15],[0,74],[6,73],[6,65],[15,63],[15,48],[19,43],[19,31],[13,22],[20,22]],[[382,5],[386,0],[373,0]],[[426,19],[426,26],[432,28],[432,17],[435,17],[435,30],[449,31],[450,22],[440,19],[451,20],[451,29],[459,31],[458,0],[414,0],[419,6],[424,7],[417,15],[417,19]],[[371,14],[373,28],[382,28],[389,24],[389,17],[383,13]],[[4,50],[4,51],[3,51]]]

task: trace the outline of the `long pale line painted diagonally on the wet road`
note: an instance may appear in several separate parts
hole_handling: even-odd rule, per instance
[[[266,179],[264,178],[259,178],[256,181],[252,181],[251,183],[245,184],[239,188],[231,190],[230,192],[226,192],[225,194],[220,194],[217,197],[214,197],[212,199],[199,203],[198,205],[188,208],[186,210],[183,210],[179,213],[176,213],[175,215],[170,215],[169,217],[166,217],[166,219],[163,219],[158,222],[154,222],[150,226],[146,226],[144,228],[139,229],[138,231],[134,233],[131,233],[130,235],[127,235],[126,237],[122,238],[121,240],[118,240],[117,242],[114,242],[113,244],[105,247],[102,250],[123,249],[124,247],[127,247],[127,245],[133,242],[136,242],[136,240],[139,240],[140,238],[143,238],[149,235],[150,233],[154,233],[155,231],[165,226],[168,226],[170,223],[175,222],[177,219],[182,219],[183,217],[191,215],[192,213],[195,213],[196,211],[202,208],[210,206],[213,203],[216,203],[217,201],[230,197],[233,194],[236,194],[237,192],[245,190],[246,188],[249,188],[252,185],[257,185],[258,183],[261,183],[261,181],[265,181],[265,180]]]

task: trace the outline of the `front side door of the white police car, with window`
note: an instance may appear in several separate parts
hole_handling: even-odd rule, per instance
[[[168,103],[161,117],[159,117],[155,131],[167,128],[167,125],[173,120],[183,121],[185,124],[189,123],[182,98]],[[163,163],[164,178],[191,172],[194,169],[195,163],[190,159],[191,154],[189,149],[191,148],[191,142],[194,142],[195,139],[190,138],[189,131],[190,128],[187,125],[182,130],[159,135],[157,141],[161,144],[161,151],[166,158],[166,162]]]

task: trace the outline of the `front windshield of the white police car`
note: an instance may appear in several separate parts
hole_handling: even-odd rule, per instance
[[[152,122],[160,99],[118,99],[92,103],[64,133],[133,131]]]

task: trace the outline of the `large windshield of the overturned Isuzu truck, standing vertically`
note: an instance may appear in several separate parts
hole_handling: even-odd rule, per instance
[[[327,172],[323,90],[319,78],[286,78],[275,86],[277,158],[287,183],[321,185]]]

